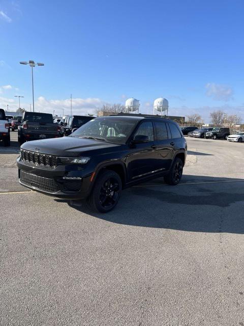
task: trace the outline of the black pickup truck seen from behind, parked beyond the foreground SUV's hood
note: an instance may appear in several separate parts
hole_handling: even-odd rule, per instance
[[[23,122],[18,126],[18,142],[61,137],[60,126],[53,123],[49,113],[24,112]]]

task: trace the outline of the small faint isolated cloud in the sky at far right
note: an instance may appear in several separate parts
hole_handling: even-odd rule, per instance
[[[217,101],[229,101],[233,99],[233,89],[230,86],[208,83],[205,88],[206,95]]]

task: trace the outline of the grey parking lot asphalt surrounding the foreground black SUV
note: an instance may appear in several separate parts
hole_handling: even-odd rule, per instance
[[[0,144],[0,325],[244,325],[244,144],[189,139],[182,181],[115,210],[30,192]]]

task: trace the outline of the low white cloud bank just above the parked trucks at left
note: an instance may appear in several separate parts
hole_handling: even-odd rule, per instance
[[[48,100],[43,96],[40,96],[35,102],[35,110],[40,112],[49,112],[55,114],[68,115],[70,114],[70,98],[63,100]],[[105,102],[100,98],[73,98],[72,99],[72,113],[79,115],[87,115],[88,113],[94,113],[94,111],[101,107]],[[27,106],[26,106],[27,107]]]

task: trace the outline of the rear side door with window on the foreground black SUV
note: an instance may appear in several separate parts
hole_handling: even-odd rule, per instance
[[[171,133],[163,121],[155,121],[154,130],[155,146],[158,154],[156,169],[163,172],[170,169],[174,155],[173,147],[170,144],[172,142]]]

